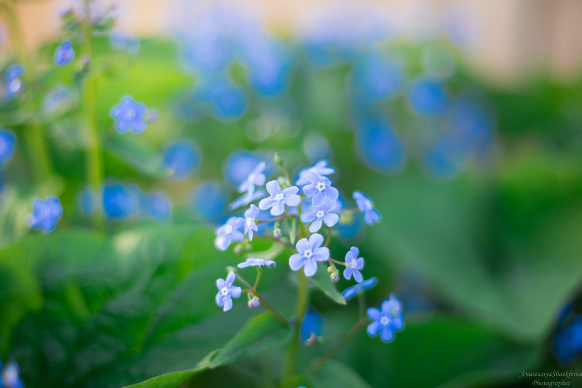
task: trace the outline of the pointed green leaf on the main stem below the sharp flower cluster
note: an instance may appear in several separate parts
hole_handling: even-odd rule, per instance
[[[210,368],[250,357],[289,340],[291,329],[265,311],[254,316],[210,363]]]

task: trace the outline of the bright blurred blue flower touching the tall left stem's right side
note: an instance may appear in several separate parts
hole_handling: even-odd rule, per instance
[[[107,218],[111,220],[136,215],[140,209],[140,199],[139,188],[133,185],[110,180],[102,188],[102,208]]]

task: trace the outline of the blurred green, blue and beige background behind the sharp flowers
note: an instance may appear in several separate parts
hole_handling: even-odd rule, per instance
[[[537,378],[522,372],[582,372],[582,2],[120,2],[93,39],[98,190],[84,169],[81,43],[72,65],[52,59],[69,3],[10,4],[0,63],[26,62],[27,78],[0,106],[18,139],[0,169],[0,357],[27,386],[122,387],[223,346],[255,312],[215,305],[214,279],[240,260],[214,247],[214,229],[258,161],[279,175],[274,151],[293,173],[328,159],[343,201],[362,190],[382,214],[331,244],[332,257],[359,247],[379,278],[368,305],[391,292],[404,304],[393,343],[362,332],[336,355],[356,386],[525,387]],[[123,95],[157,111],[143,134],[113,129]],[[31,200],[47,195],[63,218],[31,231]],[[285,259],[261,287],[290,317]],[[300,348],[299,367],[358,314],[315,289],[310,305],[325,340]],[[284,356],[274,347],[184,387],[273,387]],[[326,372],[313,386],[342,386]]]

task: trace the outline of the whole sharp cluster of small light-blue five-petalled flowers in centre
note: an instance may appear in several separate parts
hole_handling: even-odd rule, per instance
[[[294,182],[295,186],[290,182],[289,175],[278,154],[275,154],[275,163],[281,166],[285,176],[274,180],[268,180],[264,161],[259,161],[255,166],[246,169],[248,175],[241,177],[238,187],[239,192],[243,195],[234,204],[237,206],[250,204],[250,207],[244,210],[243,217],[230,216],[223,225],[218,227],[215,246],[224,251],[235,241],[235,243],[239,243],[235,247],[235,252],[241,253],[243,249],[250,249],[250,242],[254,238],[268,237],[293,247],[286,238],[283,238],[281,223],[287,219],[295,218],[299,220],[299,223],[285,223],[289,240],[293,239],[292,235],[300,237],[294,244],[297,252],[289,257],[291,270],[303,270],[304,275],[311,277],[317,273],[319,263],[328,263],[331,281],[338,282],[339,270],[336,268],[336,264],[344,266],[343,277],[347,280],[351,280],[353,277],[357,282],[356,286],[348,287],[343,291],[342,295],[346,300],[373,287],[378,279],[372,277],[364,280],[361,272],[364,269],[364,258],[360,257],[360,251],[357,247],[351,247],[346,252],[344,261],[338,261],[331,257],[331,252],[327,246],[332,234],[332,227],[339,222],[343,215],[352,215],[353,218],[353,212],[359,211],[363,213],[364,222],[368,225],[379,222],[380,214],[374,208],[371,198],[361,191],[354,191],[353,198],[356,201],[356,207],[338,208],[339,191],[333,187],[333,183],[328,177],[335,173],[335,169],[328,166],[327,161],[318,161],[313,166],[301,170]],[[265,190],[262,190],[263,185],[266,193]],[[260,195],[256,195],[257,193]],[[254,201],[258,201],[258,206],[251,203]],[[237,207],[232,205],[231,208]],[[259,219],[261,211],[269,211],[274,218]],[[262,231],[260,231],[260,226],[264,223],[274,223],[271,236],[267,236],[269,232],[266,228],[261,228]],[[303,224],[309,224],[308,233],[304,231]],[[324,224],[328,227],[327,241],[321,233],[317,233]],[[293,241],[290,242],[293,243]],[[241,269],[250,266],[258,270],[257,282],[252,289],[242,290],[240,287],[233,286],[237,278],[235,269],[230,270],[226,279],[217,280],[216,302],[224,311],[232,308],[232,298],[240,297],[243,292],[247,293],[249,297],[250,307],[254,308],[260,305],[256,288],[261,271],[265,266],[275,268],[276,263],[269,259],[249,257],[237,265]],[[393,333],[402,330],[404,326],[402,306],[393,295],[382,304],[381,310],[368,309],[368,318],[373,321],[368,326],[368,334],[375,336],[380,333],[383,341],[392,340]],[[317,335],[316,333],[315,336],[317,337]]]

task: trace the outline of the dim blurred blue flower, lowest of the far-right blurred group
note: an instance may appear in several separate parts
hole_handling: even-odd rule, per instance
[[[469,157],[466,145],[456,138],[443,137],[424,154],[424,168],[439,179],[450,179],[464,169]]]

